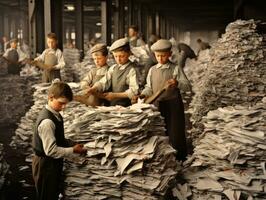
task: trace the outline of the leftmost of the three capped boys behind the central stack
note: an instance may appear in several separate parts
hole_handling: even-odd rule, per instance
[[[108,59],[108,50],[105,44],[94,45],[90,50],[90,53],[95,63],[95,67],[92,67],[89,73],[80,82],[81,89],[83,89],[86,93],[90,87],[105,76],[109,68],[106,63]],[[108,105],[108,102],[103,99],[98,99],[94,95],[89,95],[87,100],[88,104],[93,103],[94,105]]]

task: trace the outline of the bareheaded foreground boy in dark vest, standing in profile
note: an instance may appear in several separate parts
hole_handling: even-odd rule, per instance
[[[66,83],[53,83],[48,90],[48,104],[37,118],[32,143],[35,154],[32,174],[38,200],[57,200],[63,157],[86,153],[81,144],[73,146],[73,142],[64,136],[63,119],[59,112],[72,98],[73,93]]]

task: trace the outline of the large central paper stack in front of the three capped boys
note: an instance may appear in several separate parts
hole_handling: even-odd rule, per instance
[[[175,150],[164,136],[163,119],[154,107],[88,108],[84,114],[72,112],[72,118],[66,135],[84,143],[88,153],[66,165],[67,199],[158,199],[165,195],[179,168]]]

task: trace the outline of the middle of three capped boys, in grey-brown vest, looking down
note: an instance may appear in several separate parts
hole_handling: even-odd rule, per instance
[[[88,93],[95,91],[103,92],[111,89],[111,92],[104,94],[105,99],[110,101],[111,106],[129,106],[131,98],[138,93],[139,85],[137,82],[135,66],[129,61],[130,46],[126,38],[115,41],[110,51],[113,53],[117,64],[109,68],[107,74],[92,88]]]

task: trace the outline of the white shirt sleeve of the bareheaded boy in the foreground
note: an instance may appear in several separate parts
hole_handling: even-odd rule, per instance
[[[55,124],[50,119],[44,119],[38,126],[38,133],[42,140],[43,149],[47,156],[63,158],[73,154],[73,147],[59,147],[56,145]]]

